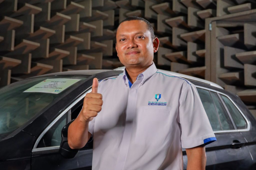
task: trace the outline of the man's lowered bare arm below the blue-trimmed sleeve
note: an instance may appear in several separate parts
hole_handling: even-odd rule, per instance
[[[206,154],[204,146],[186,149],[186,152],[188,158],[187,170],[205,170]]]

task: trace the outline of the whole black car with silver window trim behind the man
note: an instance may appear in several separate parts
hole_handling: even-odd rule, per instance
[[[51,73],[1,88],[0,169],[91,169],[93,142],[88,142],[77,153],[75,150],[75,157],[67,158],[69,155],[61,152],[67,150],[60,149],[61,140],[65,138],[61,132],[63,135],[63,127],[80,113],[93,78],[100,81],[117,77],[123,69]],[[206,146],[206,169],[255,170],[256,120],[240,98],[215,83],[164,72],[183,77],[197,87],[217,138]],[[185,149],[183,160],[186,169]]]

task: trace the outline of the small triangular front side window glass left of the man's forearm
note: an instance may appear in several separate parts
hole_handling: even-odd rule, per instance
[[[38,144],[38,148],[60,146],[61,130],[67,124],[67,115],[63,115],[53,126],[49,129]]]

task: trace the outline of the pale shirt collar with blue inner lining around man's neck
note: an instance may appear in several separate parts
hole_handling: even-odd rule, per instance
[[[157,71],[157,68],[156,68],[156,65],[155,63],[153,62],[153,64],[148,67],[145,71],[143,71],[142,73],[140,73],[137,77],[136,80],[142,80],[141,82],[141,85],[143,85],[143,83],[148,79],[150,78],[153,74],[155,74]],[[131,82],[129,81],[128,77],[127,77],[127,71],[126,69],[124,69],[124,72],[123,72],[123,80],[125,82],[125,84],[127,86],[129,86],[129,83],[131,84]]]

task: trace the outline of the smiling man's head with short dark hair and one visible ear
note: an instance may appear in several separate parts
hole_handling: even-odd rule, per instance
[[[152,64],[154,52],[157,51],[158,45],[158,38],[152,39],[150,31],[147,29],[147,24],[144,21],[125,21],[117,29],[117,56],[125,67]]]

